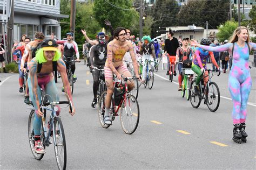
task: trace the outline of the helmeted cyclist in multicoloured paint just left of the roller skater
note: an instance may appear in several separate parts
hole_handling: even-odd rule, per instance
[[[202,38],[200,44],[209,46],[211,44],[211,41],[208,40],[207,38]],[[219,66],[214,59],[213,52],[211,52],[211,51],[205,51],[202,48],[196,47],[194,55],[195,55],[195,57],[192,62],[192,70],[194,73],[196,73],[198,75],[197,79],[196,79],[196,86],[194,89],[194,92],[197,95],[198,94],[198,84],[199,84],[200,80],[202,79],[202,77],[204,76],[205,84],[207,83],[207,81],[209,79],[207,76],[208,72],[204,72],[204,75],[203,75],[204,69],[207,69],[206,62],[207,62],[208,56],[211,57],[212,63],[214,64],[215,67],[217,67],[217,69],[219,69]]]

